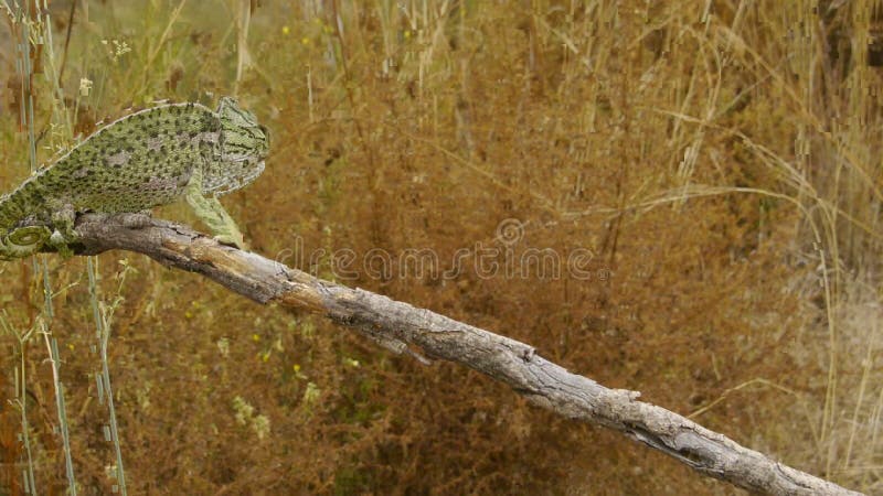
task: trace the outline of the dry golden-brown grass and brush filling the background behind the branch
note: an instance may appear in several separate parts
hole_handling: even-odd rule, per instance
[[[273,139],[264,175],[224,198],[254,250],[325,278],[340,249],[360,263],[432,249],[442,269],[471,250],[450,279],[357,267],[341,282],[883,492],[876,1],[71,9],[51,3],[52,53],[35,45],[41,161],[127,107],[236,95]],[[22,26],[7,28],[1,191],[29,173]],[[194,222],[182,206],[156,215]],[[477,249],[503,247],[507,219],[522,228],[512,252],[587,249],[595,277],[483,277]],[[78,487],[107,493],[86,260],[36,260],[0,266],[0,494],[23,490],[22,370],[38,489],[67,487],[46,339],[17,339],[44,328]],[[470,370],[423,367],[142,257],[97,265],[132,494],[737,493]]]

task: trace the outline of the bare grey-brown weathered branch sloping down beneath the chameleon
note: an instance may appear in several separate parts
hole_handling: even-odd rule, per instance
[[[858,495],[777,463],[663,408],[637,391],[609,389],[571,374],[524,343],[425,309],[315,278],[256,254],[219,245],[189,227],[138,214],[84,215],[78,255],[111,249],[145,254],[205,276],[258,303],[321,313],[397,352],[457,362],[509,385],[534,405],[600,424],[659,450],[696,472],[772,495]],[[415,347],[416,349],[412,349]]]

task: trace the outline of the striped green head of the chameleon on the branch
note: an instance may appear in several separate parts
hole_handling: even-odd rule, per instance
[[[217,107],[221,121],[221,161],[208,171],[205,192],[223,194],[245,186],[264,172],[269,152],[269,132],[254,114],[240,108],[236,100],[221,98]]]

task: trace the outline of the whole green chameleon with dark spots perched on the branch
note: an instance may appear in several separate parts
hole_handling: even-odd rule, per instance
[[[70,254],[77,213],[141,212],[182,196],[215,239],[243,247],[217,196],[254,181],[268,151],[267,129],[227,97],[216,111],[172,104],[123,117],[0,197],[0,260],[44,246]]]

